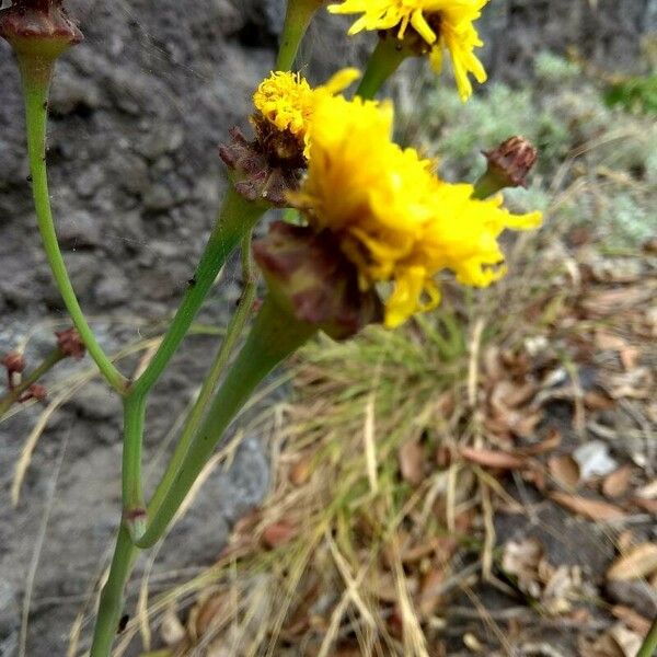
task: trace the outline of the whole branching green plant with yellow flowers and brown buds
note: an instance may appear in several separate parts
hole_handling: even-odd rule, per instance
[[[120,396],[124,408],[122,522],[100,596],[92,657],[106,657],[112,650],[125,586],[140,550],[151,548],[165,533],[226,429],[274,368],[320,331],[344,341],[367,324],[384,323],[390,328],[435,308],[441,299],[435,277],[443,269],[454,272],[462,284],[488,286],[504,275],[497,242],[502,231],[540,223],[539,212],[512,215],[496,196],[502,188],[525,183],[535,160],[535,150],[526,140],[508,139],[488,152],[488,168],[474,184],[451,185],[436,177],[417,151],[402,150],[391,140],[392,107],[370,100],[403,58],[429,55],[438,68],[443,54],[451,57],[459,95],[466,100],[472,93],[468,76],[480,82],[485,79],[474,55],[480,42],[473,23],[481,7],[424,10],[425,16],[422,8],[412,11],[404,5],[392,25],[370,20],[368,5],[347,1],[330,8],[365,13],[367,20],[357,21],[356,28],[391,28],[381,36],[356,97],[347,100],[341,92],[358,77],[353,69],[338,72],[315,89],[289,71],[320,4],[318,0],[288,3],[278,57],[281,70],[264,80],[254,94],[255,111],[250,117],[254,139],[234,130],[232,141],[221,148],[229,169],[228,193],[175,316],[143,370],[135,376],[122,372],[104,351],[81,309],[50,207],[46,146],[50,82],[56,60],[82,35],[61,0],[16,0],[0,11],[0,35],[14,49],[21,73],[32,192],[43,249],[76,327],[76,349],[66,353],[59,345],[23,383],[12,387],[0,401],[0,412],[21,401],[25,383],[33,385],[65,355],[78,356],[84,349]],[[408,21],[412,30],[407,30]],[[252,249],[252,230],[272,207],[293,207],[303,220],[296,226],[274,224]],[[241,303],[147,503],[142,441],[149,394],[238,246],[242,249],[245,281]],[[267,296],[230,362],[253,310],[252,250],[266,280]],[[400,351],[404,347],[406,367],[426,367],[425,349],[436,351],[446,367],[464,353],[465,343],[449,314],[436,324],[417,322],[428,337],[426,344],[418,347],[397,341],[395,346]],[[379,345],[395,339],[393,333],[378,331],[373,335]],[[15,358],[7,362],[11,377],[24,369]],[[13,379],[10,383],[13,385]],[[394,381],[382,381],[381,395],[392,392],[391,385]],[[402,426],[412,418],[399,419]],[[391,430],[392,435],[399,431]],[[359,486],[349,491],[341,504],[353,504],[358,491]]]

